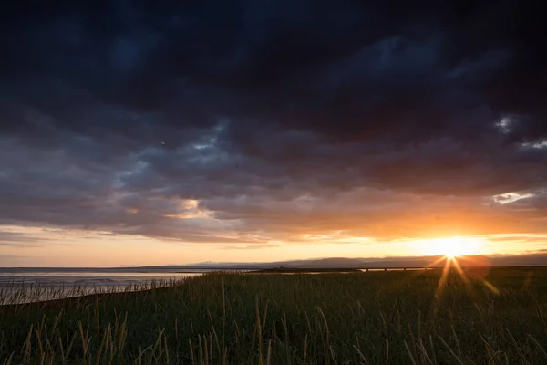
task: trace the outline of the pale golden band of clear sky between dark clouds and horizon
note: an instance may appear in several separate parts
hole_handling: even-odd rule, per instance
[[[542,248],[537,244],[542,235],[518,234],[374,241],[333,233],[309,235],[306,242],[276,240],[227,245],[192,244],[139,235],[112,235],[109,232],[54,227],[11,225],[0,226],[0,231],[25,235],[25,241],[18,245],[0,246],[0,266],[152,266],[204,261],[271,262],[325,257],[444,255],[446,249],[453,252],[454,245],[461,255],[521,254]],[[33,242],[33,238],[36,241]],[[32,245],[26,245],[29,242]]]

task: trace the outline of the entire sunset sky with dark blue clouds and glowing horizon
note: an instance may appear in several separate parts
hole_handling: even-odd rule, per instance
[[[547,249],[525,1],[52,1],[0,21],[0,266]]]

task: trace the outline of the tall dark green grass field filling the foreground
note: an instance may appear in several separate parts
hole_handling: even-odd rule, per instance
[[[0,364],[543,364],[547,270],[210,274],[0,307]],[[498,290],[493,290],[493,287]]]

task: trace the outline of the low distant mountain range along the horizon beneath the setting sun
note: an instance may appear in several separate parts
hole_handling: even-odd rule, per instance
[[[432,265],[433,263],[436,264]],[[547,266],[547,252],[530,255],[464,255],[458,257],[460,266]],[[101,272],[142,272],[142,271],[201,271],[201,270],[261,270],[267,268],[412,268],[412,267],[441,267],[445,260],[438,256],[416,256],[416,257],[330,257],[308,260],[276,261],[269,263],[249,262],[204,262],[189,265],[167,265],[167,266],[139,266],[139,267],[8,267],[0,268],[0,272],[12,272],[27,269],[29,271],[101,271]]]

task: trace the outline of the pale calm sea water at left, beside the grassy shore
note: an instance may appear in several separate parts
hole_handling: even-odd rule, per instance
[[[212,270],[0,268],[0,306],[168,287]]]

